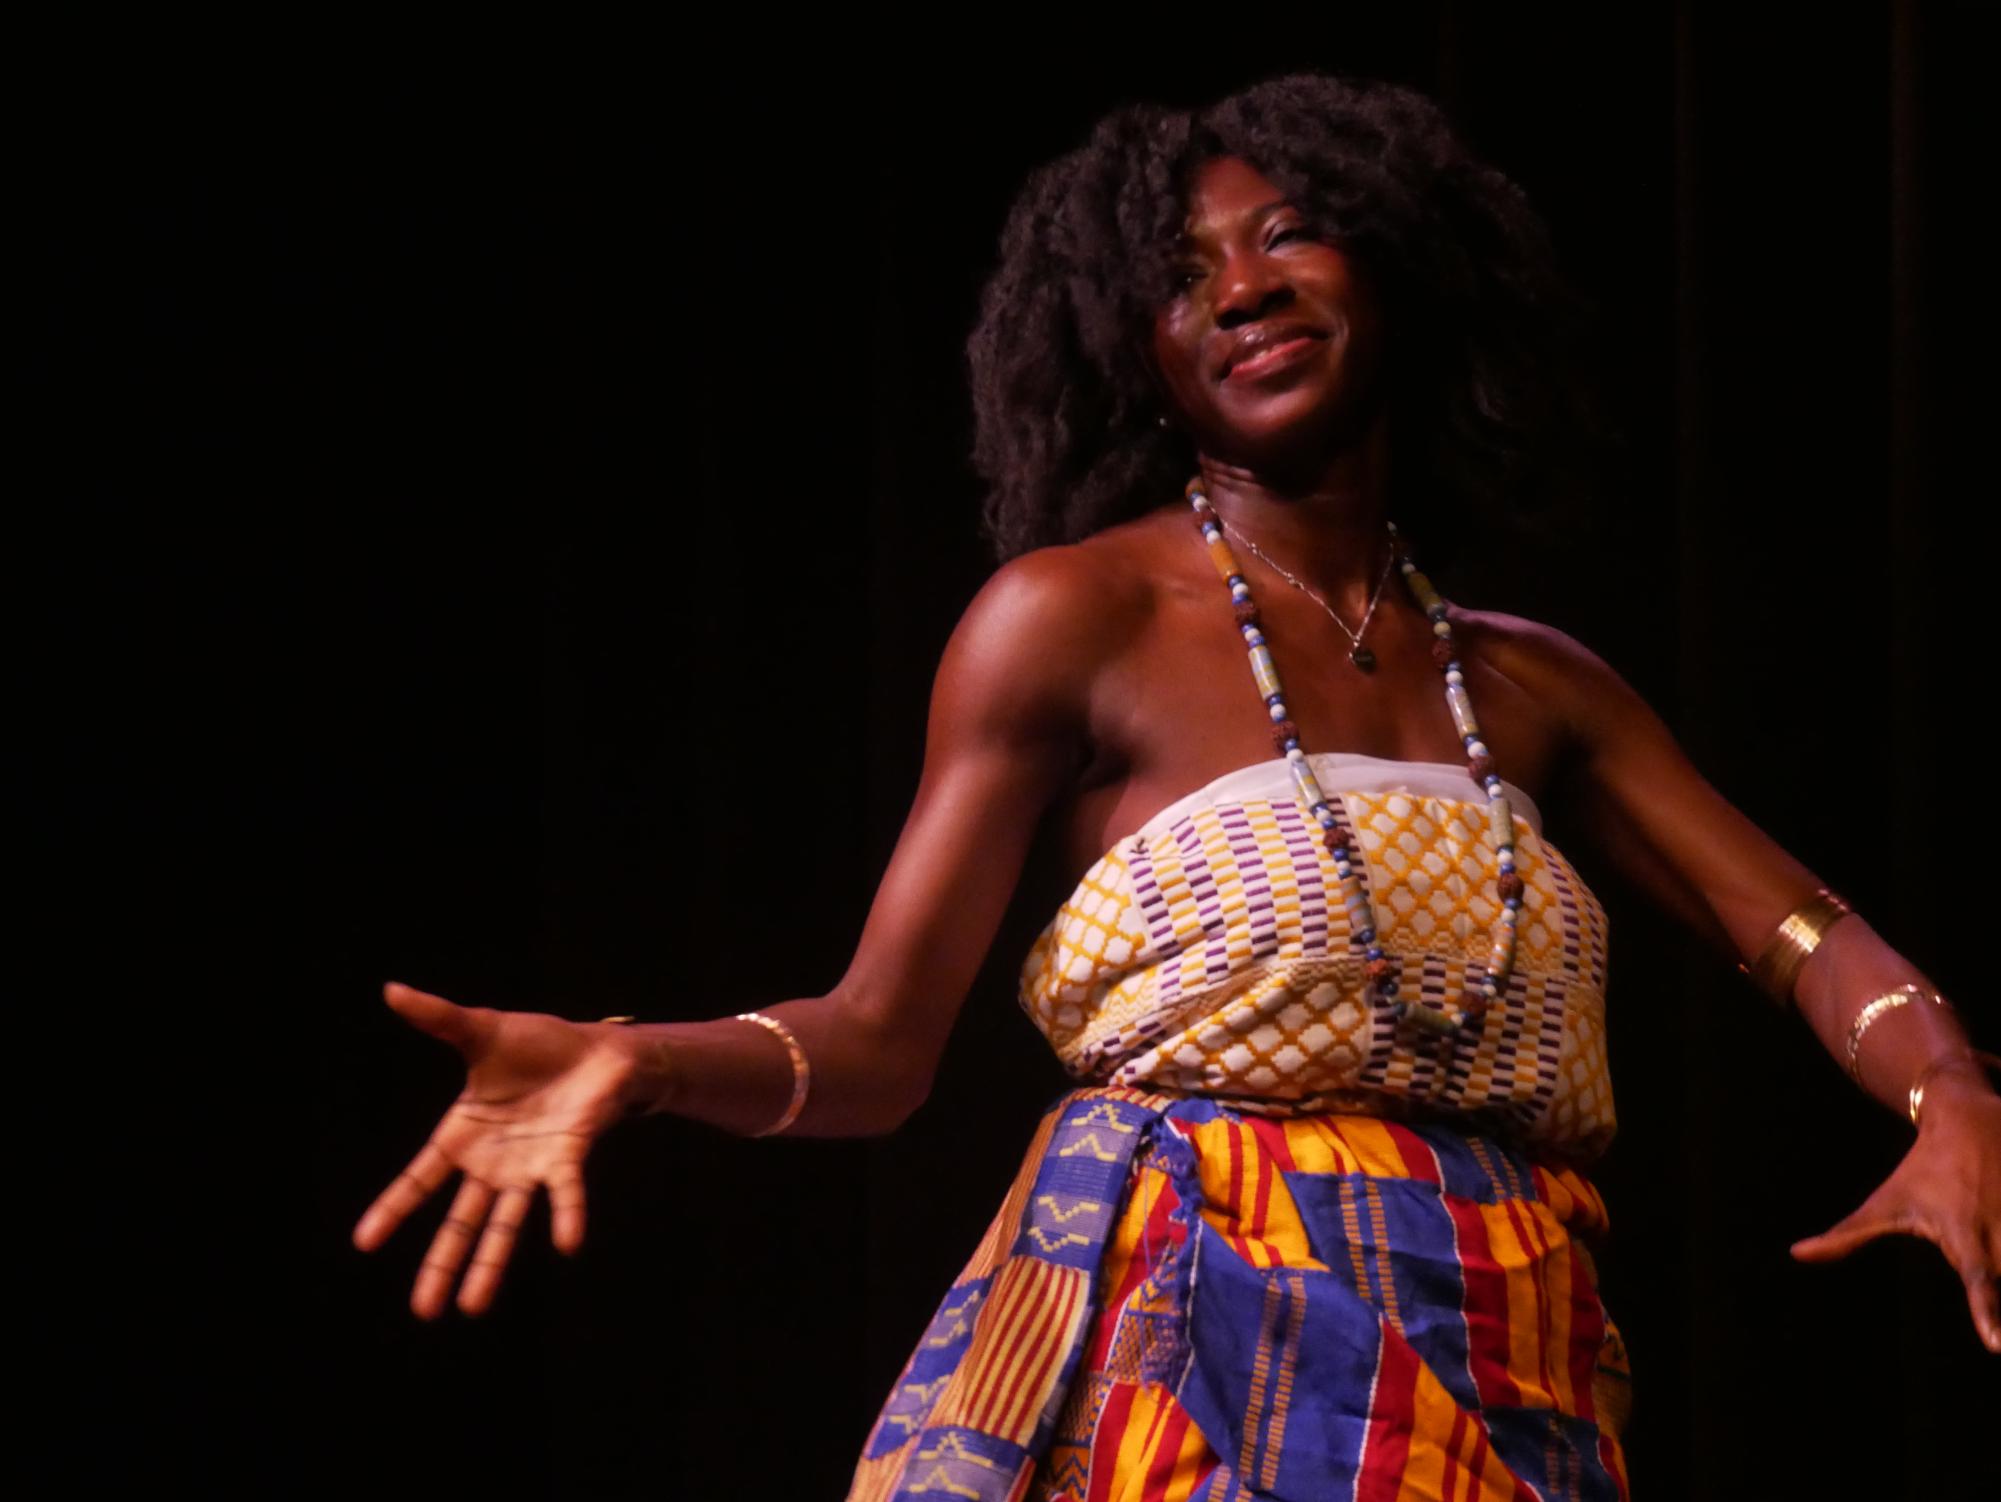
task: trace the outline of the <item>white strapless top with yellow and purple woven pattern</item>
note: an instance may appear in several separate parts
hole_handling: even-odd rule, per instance
[[[1457,1000],[1485,974],[1499,916],[1481,788],[1447,762],[1311,762],[1355,836],[1399,996]],[[1445,1112],[1589,1162],[1617,1130],[1605,910],[1529,796],[1507,794],[1515,968],[1461,1034],[1419,1034],[1373,1002],[1333,856],[1283,758],[1217,778],[1107,850],[1029,950],[1021,1004],[1079,1080],[1259,1114]]]

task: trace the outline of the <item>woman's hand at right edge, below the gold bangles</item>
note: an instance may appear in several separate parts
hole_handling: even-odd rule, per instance
[[[1947,1084],[1951,1078],[1951,1084]],[[1967,1076],[1937,1076],[1917,1142],[1855,1214],[1793,1242],[1801,1262],[1833,1262],[1883,1234],[1935,1242],[1967,1284],[1973,1328],[2001,1352],[2001,1096]]]

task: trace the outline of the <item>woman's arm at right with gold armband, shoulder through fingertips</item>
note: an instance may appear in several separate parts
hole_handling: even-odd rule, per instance
[[[1521,626],[1499,644],[1497,666],[1565,706],[1579,752],[1571,812],[1585,834],[1729,960],[1755,960],[1823,882],[1695,770],[1661,716],[1611,666],[1561,632]],[[1821,1046],[1849,1068],[1859,1014],[1905,984],[1933,992],[1915,964],[1849,914],[1801,968],[1793,1002]],[[1923,1236],[1959,1272],[1975,1328],[2001,1352],[2001,1096],[1973,1060],[1957,1016],[1929,1000],[1881,1010],[1859,1038],[1855,1074],[1899,1116],[1925,1076],[1917,1142],[1855,1214],[1797,1242],[1793,1254],[1825,1260],[1885,1232]]]

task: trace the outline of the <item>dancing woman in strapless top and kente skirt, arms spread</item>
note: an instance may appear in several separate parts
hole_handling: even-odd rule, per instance
[[[1587,1178],[1607,932],[1561,828],[1915,1124],[1795,1256],[1925,1236],[2001,1350],[1991,1056],[1603,660],[1421,568],[1561,422],[1559,292],[1521,194],[1393,86],[1129,106],[1041,168],[970,344],[1005,562],[944,650],[846,974],[690,1024],[390,984],[466,1088],[356,1246],[460,1172],[412,1308],[456,1286],[478,1314],[538,1186],[580,1246],[584,1154],[626,1114],[894,1130],[1041,828],[1075,892],[1021,1000],[1081,1084],[850,1500],[1623,1498]]]

